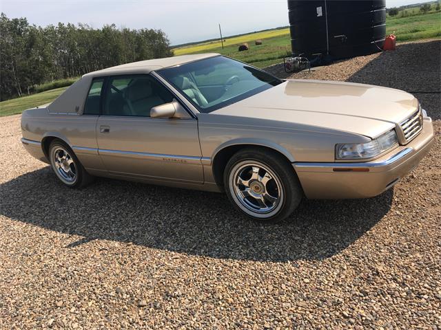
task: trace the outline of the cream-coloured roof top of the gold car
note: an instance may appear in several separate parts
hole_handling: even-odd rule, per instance
[[[219,56],[219,54],[207,53],[154,58],[152,60],[116,65],[116,67],[107,67],[106,69],[85,74],[83,77],[110,76],[114,74],[149,74],[152,71],[163,69],[165,67],[174,67],[176,65],[199,61],[214,56]]]

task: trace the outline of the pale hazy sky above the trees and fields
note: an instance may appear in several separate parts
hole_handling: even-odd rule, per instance
[[[425,0],[387,0],[387,7]],[[9,18],[35,25],[88,23],[94,28],[163,30],[172,45],[288,25],[286,0],[0,0]]]

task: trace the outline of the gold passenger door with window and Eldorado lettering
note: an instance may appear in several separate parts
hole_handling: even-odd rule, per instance
[[[150,75],[107,78],[96,139],[111,175],[203,183],[197,120],[150,118],[173,98]]]

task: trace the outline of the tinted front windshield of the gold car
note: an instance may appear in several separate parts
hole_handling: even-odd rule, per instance
[[[231,58],[216,56],[158,71],[203,113],[249,98],[282,80]]]

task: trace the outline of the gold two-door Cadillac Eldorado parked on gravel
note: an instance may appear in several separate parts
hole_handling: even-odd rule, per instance
[[[289,217],[303,197],[379,195],[433,144],[431,118],[405,91],[281,80],[219,54],[85,74],[24,111],[21,129],[70,188],[111,177],[226,192],[258,221]]]

